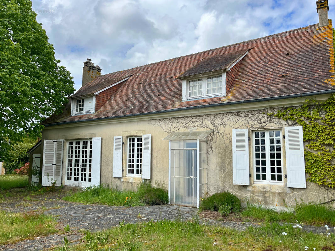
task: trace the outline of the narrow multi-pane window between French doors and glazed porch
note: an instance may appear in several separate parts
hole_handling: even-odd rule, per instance
[[[127,175],[142,174],[142,137],[128,138]]]

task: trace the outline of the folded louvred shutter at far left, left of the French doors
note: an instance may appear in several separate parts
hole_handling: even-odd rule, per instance
[[[44,140],[42,186],[50,186],[55,180],[56,185],[61,184],[62,159],[63,140]]]

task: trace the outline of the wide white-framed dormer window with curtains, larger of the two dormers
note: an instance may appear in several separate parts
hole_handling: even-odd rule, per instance
[[[187,80],[186,99],[225,95],[225,83],[222,81],[222,75],[216,74]]]

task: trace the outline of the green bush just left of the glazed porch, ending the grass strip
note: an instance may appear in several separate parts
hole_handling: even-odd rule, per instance
[[[151,185],[151,182],[141,183],[137,188],[140,201],[147,205],[161,205],[169,203],[169,192],[164,184]]]

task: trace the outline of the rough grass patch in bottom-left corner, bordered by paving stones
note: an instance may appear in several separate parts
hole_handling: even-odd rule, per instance
[[[44,214],[0,211],[0,244],[56,233],[55,226],[56,220]]]

